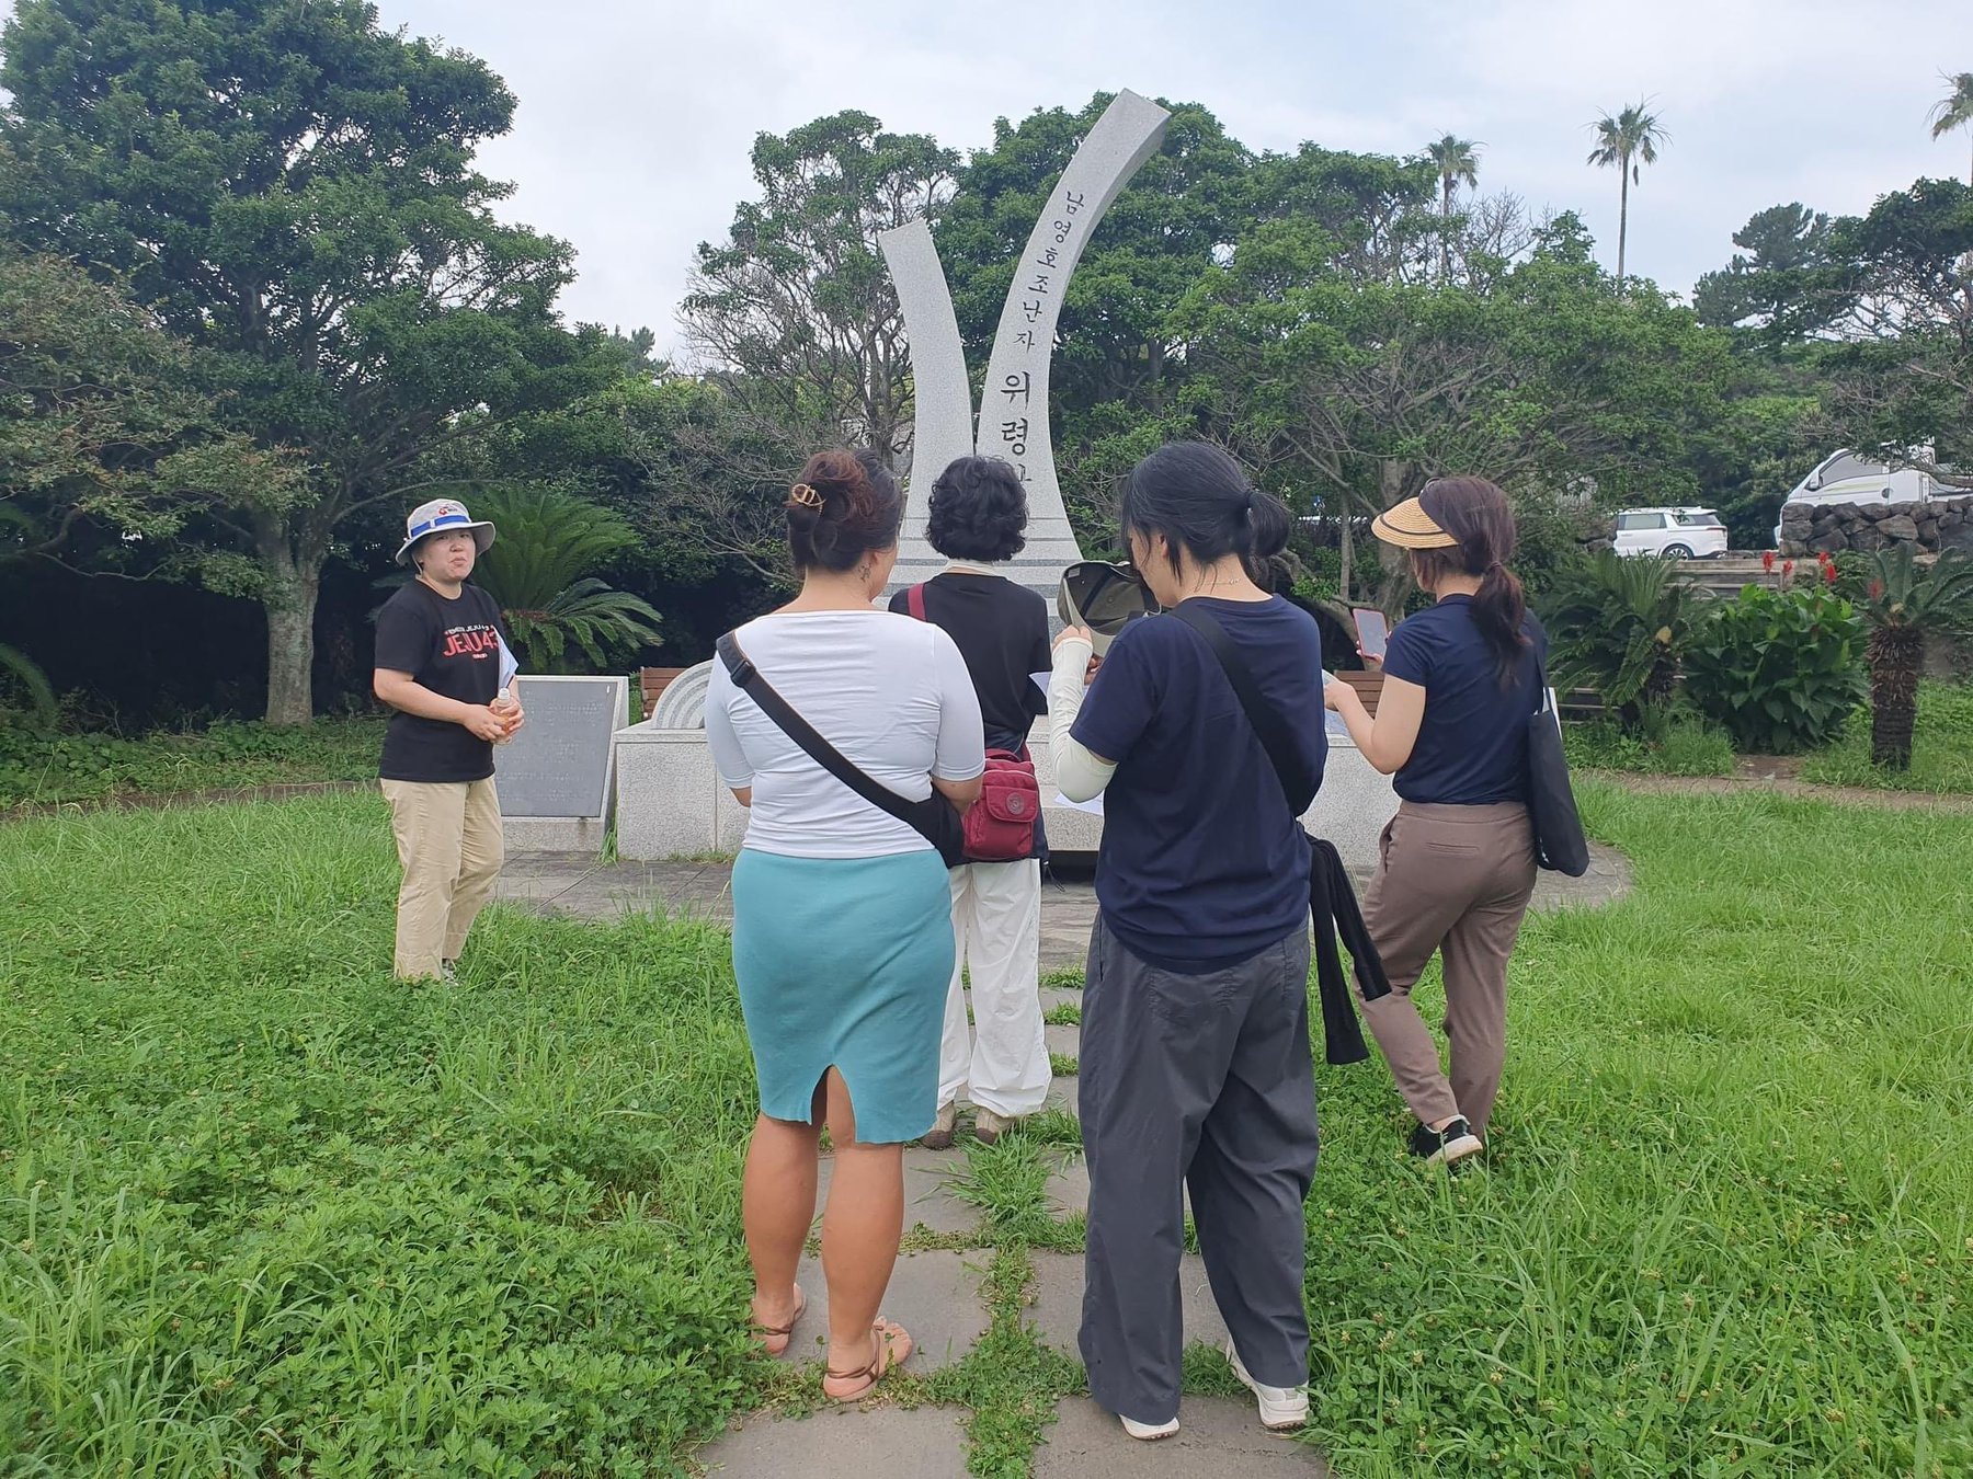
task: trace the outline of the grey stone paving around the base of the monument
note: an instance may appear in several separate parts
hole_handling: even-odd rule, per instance
[[[732,921],[732,866],[726,862],[618,862],[600,864],[588,854],[519,852],[507,858],[495,897],[543,913],[584,919],[618,919],[663,909],[673,915]],[[1357,891],[1369,880],[1355,880]],[[1600,907],[1630,893],[1630,864],[1614,848],[1590,848],[1582,878],[1543,874],[1535,883],[1535,909]],[[1089,952],[1089,927],[1097,917],[1095,885],[1052,878],[1042,889],[1042,972],[1081,968]]]

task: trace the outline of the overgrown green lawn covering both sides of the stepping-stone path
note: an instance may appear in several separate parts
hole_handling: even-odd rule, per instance
[[[1973,816],[1586,810],[1638,891],[1531,921],[1486,1169],[1409,1162],[1381,1065],[1320,1073],[1314,1440],[1346,1479],[1973,1473]],[[724,937],[495,909],[402,988],[393,893],[369,795],[0,828],[0,1473],[671,1473],[791,1392],[740,1327]],[[1077,1382],[1022,1323],[1073,1134],[975,1150],[994,1327],[898,1388],[973,1408],[975,1473]]]

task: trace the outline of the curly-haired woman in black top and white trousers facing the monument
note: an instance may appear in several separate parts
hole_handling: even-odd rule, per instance
[[[931,485],[925,538],[951,566],[890,609],[943,627],[979,692],[988,749],[1026,753],[1028,730],[1046,712],[1036,672],[1048,672],[1048,601],[992,566],[1026,544],[1028,493],[996,458],[959,458]],[[919,609],[913,609],[919,607]],[[1042,864],[975,862],[953,870],[953,980],[939,1051],[939,1118],[925,1136],[953,1144],[959,1098],[973,1100],[975,1134],[996,1142],[1048,1098],[1048,1041],[1038,990]],[[965,980],[973,982],[967,1025]]]

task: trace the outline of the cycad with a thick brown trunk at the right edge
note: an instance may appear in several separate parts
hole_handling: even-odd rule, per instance
[[[1914,558],[1910,544],[1878,550],[1863,566],[1857,609],[1870,627],[1864,649],[1870,665],[1870,761],[1906,771],[1912,767],[1926,633],[1961,627],[1973,617],[1973,560],[1947,550],[1928,566]]]

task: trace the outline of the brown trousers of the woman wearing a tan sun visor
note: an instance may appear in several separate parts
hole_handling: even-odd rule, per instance
[[[1484,1130],[1507,1061],[1507,956],[1535,891],[1527,807],[1403,803],[1383,828],[1363,923],[1383,956],[1391,994],[1357,996],[1397,1092],[1425,1124],[1464,1114]],[[1411,1002],[1432,952],[1446,980],[1450,1081],[1438,1045]]]

